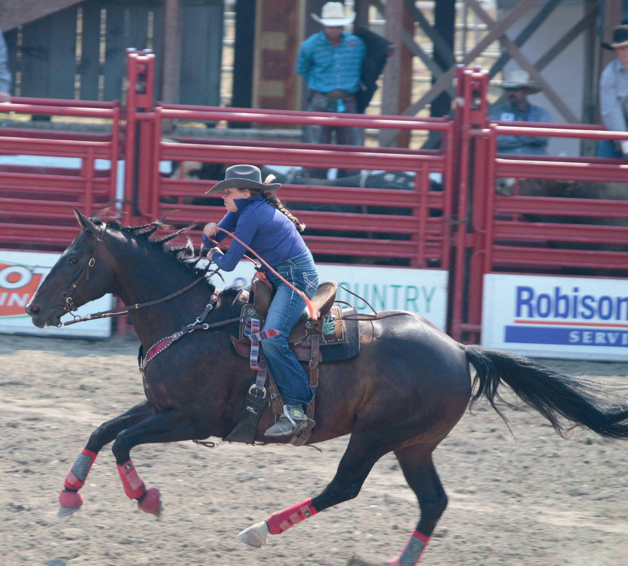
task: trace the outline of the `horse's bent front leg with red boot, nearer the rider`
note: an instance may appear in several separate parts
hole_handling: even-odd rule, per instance
[[[192,423],[179,409],[168,409],[162,413],[156,413],[117,435],[112,452],[116,457],[124,493],[131,499],[137,499],[142,511],[159,517],[161,514],[160,493],[154,487],[146,489],[144,482],[139,479],[138,472],[131,462],[131,449],[139,444],[179,442],[197,437]]]

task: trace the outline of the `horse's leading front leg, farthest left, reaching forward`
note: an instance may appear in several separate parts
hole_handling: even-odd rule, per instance
[[[119,432],[125,428],[133,427],[149,416],[154,415],[155,409],[148,401],[143,401],[133,408],[122,413],[116,418],[112,418],[106,423],[102,423],[89,437],[89,441],[83,450],[74,460],[72,467],[68,470],[63,482],[63,489],[59,494],[59,516],[73,513],[83,504],[83,496],[78,490],[85,485],[87,474],[92,469],[92,464],[98,455],[99,450],[106,444],[114,440]]]

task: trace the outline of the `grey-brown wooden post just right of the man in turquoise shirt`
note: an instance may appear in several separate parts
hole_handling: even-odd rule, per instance
[[[399,38],[401,38],[403,30],[403,4],[404,0],[388,0],[386,3],[384,35],[387,40],[393,41],[396,45],[399,45]],[[399,107],[401,72],[401,49],[396,49],[384,68],[381,114],[399,114],[401,111]],[[379,143],[382,146],[387,145],[385,134],[386,130],[379,132]]]

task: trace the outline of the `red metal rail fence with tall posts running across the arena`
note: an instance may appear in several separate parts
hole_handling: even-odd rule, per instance
[[[315,233],[306,232],[308,246],[327,261],[392,258],[413,267],[448,269],[449,331],[458,340],[479,339],[485,273],[565,274],[571,269],[599,275],[604,269],[612,275],[628,265],[628,201],[616,194],[598,199],[599,194],[583,194],[580,186],[588,181],[606,190],[608,183],[624,182],[624,161],[497,153],[501,134],[589,139],[628,139],[628,134],[590,125],[490,123],[488,75],[478,68],[458,71],[453,121],[160,104],[153,102],[153,73],[153,55],[129,54],[122,113],[116,103],[21,99],[3,105],[28,114],[106,118],[112,129],[107,135],[0,130],[0,155],[80,160],[77,168],[0,164],[0,248],[64,248],[76,233],[71,205],[85,214],[117,205],[127,213],[126,222],[137,224],[175,209],[171,222],[198,223],[191,234],[200,237],[202,224],[224,214],[219,202],[203,194],[218,179],[185,178],[183,165],[246,162],[414,173],[411,190],[286,183],[281,198],[301,205],[297,208],[350,207],[352,212],[323,212],[315,206],[298,210]],[[438,151],[414,151],[217,137],[164,139],[163,122],[171,120],[420,130],[439,132],[442,143]],[[116,199],[119,158],[125,168]],[[97,170],[95,160],[108,161],[109,168]],[[178,164],[170,177],[160,173],[165,161]],[[440,187],[431,186],[432,173],[440,176]],[[506,180],[512,194],[495,193],[498,180]]]

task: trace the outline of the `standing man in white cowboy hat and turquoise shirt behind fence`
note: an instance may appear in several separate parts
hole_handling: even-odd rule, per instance
[[[299,48],[296,72],[305,79],[310,95],[308,110],[313,112],[347,112],[355,114],[355,93],[360,89],[360,72],[365,45],[358,36],[344,31],[353,23],[355,13],[345,15],[342,2],[328,2],[321,16],[311,14],[323,29],[308,37]],[[305,141],[331,143],[335,129],[336,143],[355,145],[354,128],[332,126],[311,127],[305,131]],[[326,170],[323,170],[326,173]],[[320,177],[312,174],[312,177]],[[324,175],[327,177],[327,175]]]

